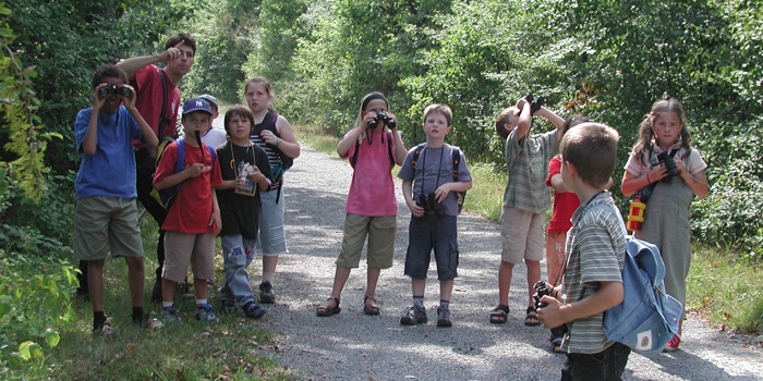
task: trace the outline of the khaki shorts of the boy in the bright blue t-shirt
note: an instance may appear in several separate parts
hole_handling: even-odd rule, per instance
[[[74,208],[74,257],[77,260],[143,257],[134,198],[80,198]]]

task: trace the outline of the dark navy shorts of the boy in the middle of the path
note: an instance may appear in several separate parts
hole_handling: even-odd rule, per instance
[[[408,253],[404,274],[426,279],[432,249],[435,249],[437,279],[450,281],[458,276],[458,236],[456,216],[411,217],[408,230]]]

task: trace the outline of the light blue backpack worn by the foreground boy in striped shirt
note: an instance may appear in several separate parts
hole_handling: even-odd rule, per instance
[[[593,208],[609,210],[622,221],[620,212],[608,205]],[[622,230],[626,231],[625,224]],[[604,312],[604,334],[651,356],[661,353],[678,333],[683,306],[665,293],[665,263],[659,249],[629,235],[626,235],[626,245],[622,303]]]

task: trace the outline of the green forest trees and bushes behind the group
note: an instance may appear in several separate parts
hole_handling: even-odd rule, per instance
[[[184,98],[241,102],[264,75],[295,125],[341,136],[359,99],[384,93],[407,146],[429,103],[455,113],[449,143],[505,172],[494,116],[532,93],[562,118],[620,132],[618,169],[661,98],[680,99],[710,194],[692,238],[759,268],[763,250],[763,4],[743,0],[14,0],[0,2],[0,368],[39,356],[65,327],[73,272],[72,125],[102,63],[198,50]],[[535,132],[550,126],[536,123]],[[616,171],[619,184],[621,171]],[[626,207],[618,192],[618,202]],[[37,275],[28,276],[29,269]],[[741,303],[763,298],[739,295]],[[31,318],[32,317],[32,318]],[[763,317],[743,327],[759,331]],[[8,323],[8,322],[13,322]],[[19,344],[24,344],[19,346]],[[15,361],[15,362],[14,362]]]

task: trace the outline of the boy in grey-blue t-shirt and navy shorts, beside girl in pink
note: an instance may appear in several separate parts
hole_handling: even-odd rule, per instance
[[[411,210],[405,275],[411,276],[413,306],[400,318],[403,325],[426,323],[424,291],[431,253],[435,250],[440,303],[437,308],[437,327],[451,327],[450,296],[453,279],[458,276],[459,192],[472,188],[472,174],[463,152],[459,153],[455,168],[453,151],[458,148],[445,144],[450,132],[453,113],[445,105],[431,105],[424,110],[422,127],[426,145],[413,147],[398,173],[402,180],[402,195]],[[419,152],[417,158],[415,152]],[[457,172],[453,179],[453,173]]]

